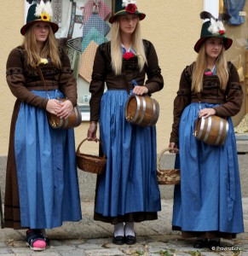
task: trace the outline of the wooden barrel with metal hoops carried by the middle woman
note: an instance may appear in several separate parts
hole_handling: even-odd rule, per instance
[[[159,103],[150,96],[132,95],[125,105],[125,119],[133,125],[155,125],[159,119]]]

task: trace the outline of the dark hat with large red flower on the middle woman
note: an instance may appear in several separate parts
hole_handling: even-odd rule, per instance
[[[146,15],[138,11],[136,1],[134,0],[115,0],[112,10],[112,16],[109,22],[112,23],[116,20],[118,15],[138,15],[140,20],[144,20]]]

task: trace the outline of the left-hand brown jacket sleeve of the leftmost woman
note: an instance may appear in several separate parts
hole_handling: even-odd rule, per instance
[[[6,64],[6,80],[9,89],[20,102],[37,108],[46,108],[48,99],[36,96],[26,88],[20,49],[15,48],[9,54]]]

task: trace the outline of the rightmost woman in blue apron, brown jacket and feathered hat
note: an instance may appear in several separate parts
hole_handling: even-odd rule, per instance
[[[224,52],[231,44],[222,20],[210,13],[194,46],[197,60],[187,66],[174,102],[170,152],[177,154],[181,185],[175,188],[172,225],[184,237],[197,237],[194,247],[217,247],[220,237],[244,232],[239,165],[231,116],[239,112],[243,91],[239,75]],[[223,16],[224,18],[224,16]],[[228,17],[226,17],[228,19]],[[196,119],[213,115],[228,120],[228,135],[221,146],[193,136]],[[178,162],[178,161],[177,161]],[[179,167],[179,166],[177,166]]]

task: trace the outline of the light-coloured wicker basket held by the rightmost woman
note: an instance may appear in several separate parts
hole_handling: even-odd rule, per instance
[[[179,169],[168,169],[162,170],[160,166],[160,161],[162,155],[169,151],[170,148],[164,148],[158,158],[158,167],[157,167],[157,177],[160,185],[176,185],[180,184],[180,170]]]

